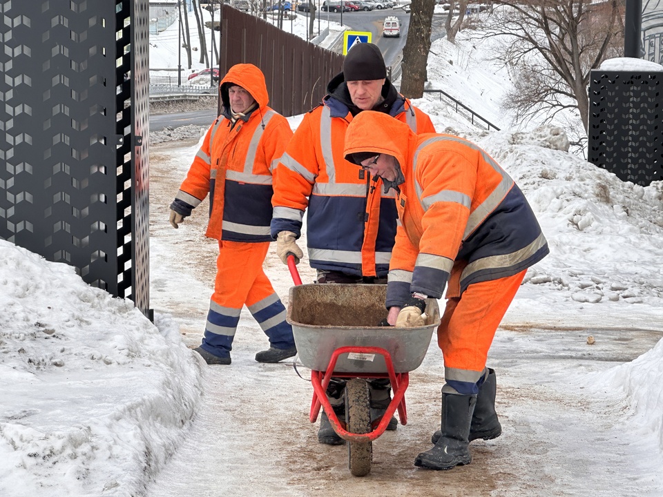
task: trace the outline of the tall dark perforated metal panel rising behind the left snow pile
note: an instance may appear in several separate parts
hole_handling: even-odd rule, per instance
[[[0,13],[0,237],[148,313],[148,0]]]

